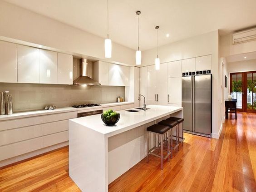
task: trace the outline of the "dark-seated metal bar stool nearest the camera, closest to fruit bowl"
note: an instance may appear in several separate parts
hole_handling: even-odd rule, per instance
[[[163,156],[163,136],[165,134],[167,134],[167,138],[168,138],[170,128],[168,126],[154,124],[154,125],[148,127],[147,131],[148,131],[148,154],[152,154],[158,158],[161,158],[161,169],[162,169],[163,160],[166,160],[168,158],[168,161],[170,161],[170,141],[169,140],[168,140],[168,144],[167,144],[167,146],[168,146],[167,155],[165,157]],[[156,136],[160,136],[160,138],[161,138],[161,156],[156,153],[153,153],[153,150],[155,150],[158,147],[157,144],[153,148],[149,149],[149,133],[153,133]],[[148,155],[147,155],[147,161],[149,162]]]

